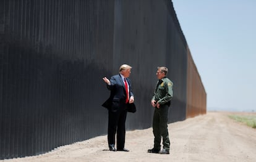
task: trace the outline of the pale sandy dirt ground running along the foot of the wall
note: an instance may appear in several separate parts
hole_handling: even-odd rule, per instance
[[[147,153],[153,146],[152,128],[127,131],[130,152],[109,152],[100,136],[56,148],[39,156],[0,161],[256,161],[256,129],[229,119],[228,112],[208,112],[168,125],[170,155]],[[254,113],[253,115],[256,115]]]

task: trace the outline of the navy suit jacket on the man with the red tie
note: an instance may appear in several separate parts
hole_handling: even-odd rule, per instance
[[[132,93],[132,84],[130,83],[130,79],[126,79],[129,84],[129,97],[134,96]],[[124,85],[124,81],[122,81],[121,75],[112,76],[110,83],[110,85],[107,84],[108,89],[111,91],[110,96],[102,106],[113,112],[116,112],[120,108],[135,108],[134,103],[126,104],[126,87]]]

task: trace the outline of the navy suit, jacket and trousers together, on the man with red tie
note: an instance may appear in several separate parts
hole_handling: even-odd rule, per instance
[[[131,90],[132,86],[130,79],[126,79],[129,84],[129,97],[131,97],[134,95]],[[127,108],[130,104],[126,103],[126,88],[121,75],[112,76],[110,83],[110,85],[107,84],[108,89],[111,91],[109,99],[102,105],[108,108],[108,144],[115,145],[117,133],[117,150],[122,150],[126,138]]]

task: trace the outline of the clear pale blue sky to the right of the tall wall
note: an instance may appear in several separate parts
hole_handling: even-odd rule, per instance
[[[208,110],[256,111],[256,0],[173,0]]]

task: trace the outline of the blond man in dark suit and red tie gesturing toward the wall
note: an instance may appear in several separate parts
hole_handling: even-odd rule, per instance
[[[111,77],[110,81],[104,77],[103,81],[111,91],[109,99],[103,103],[108,108],[108,145],[110,151],[116,151],[115,136],[117,133],[117,151],[129,152],[124,148],[126,139],[126,116],[129,103],[134,103],[134,94],[131,90],[129,65],[121,65],[119,74]]]

